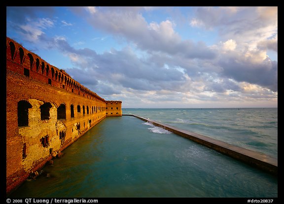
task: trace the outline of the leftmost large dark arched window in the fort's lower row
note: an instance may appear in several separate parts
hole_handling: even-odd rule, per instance
[[[29,108],[32,108],[32,105],[28,101],[18,102],[18,127],[29,126]]]

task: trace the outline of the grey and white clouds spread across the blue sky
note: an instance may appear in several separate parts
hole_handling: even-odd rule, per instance
[[[66,71],[106,99],[115,96],[128,104],[139,101],[152,106],[277,99],[278,62],[267,56],[267,50],[278,52],[277,7],[196,8],[187,26],[217,31],[218,42],[211,46],[181,37],[173,19],[147,22],[143,12],[159,8],[69,9],[104,36],[124,40],[126,46],[98,54],[81,39],[71,43],[66,36],[47,35],[57,21],[65,26],[73,22],[36,18],[35,11],[25,21],[13,21],[13,26],[36,46],[68,56],[73,67]],[[89,40],[96,39],[102,40]],[[78,43],[85,48],[72,46]]]

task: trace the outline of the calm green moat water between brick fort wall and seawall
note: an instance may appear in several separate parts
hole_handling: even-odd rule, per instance
[[[278,197],[277,177],[133,116],[106,118],[63,153],[10,197]]]

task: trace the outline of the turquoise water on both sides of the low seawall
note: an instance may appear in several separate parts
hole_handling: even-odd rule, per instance
[[[123,109],[277,158],[277,108]],[[9,197],[276,198],[278,178],[133,116],[106,118]]]

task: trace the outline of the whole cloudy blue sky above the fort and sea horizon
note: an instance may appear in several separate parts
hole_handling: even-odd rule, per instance
[[[278,7],[6,7],[6,36],[122,108],[278,107]]]

